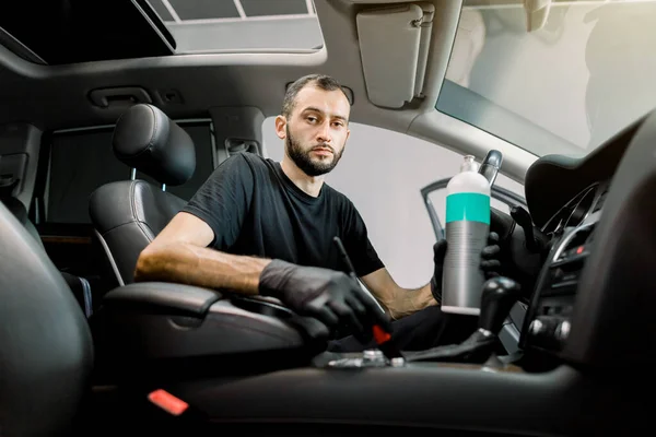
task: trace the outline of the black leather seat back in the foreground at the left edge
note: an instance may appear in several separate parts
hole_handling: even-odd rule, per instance
[[[86,318],[43,248],[0,202],[0,434],[66,435],[93,362]]]

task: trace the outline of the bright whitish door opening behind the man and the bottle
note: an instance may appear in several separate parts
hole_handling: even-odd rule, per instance
[[[397,283],[425,285],[433,274],[435,233],[420,190],[455,175],[462,155],[386,129],[354,122],[350,129],[342,158],[326,181],[355,204]],[[276,137],[273,118],[265,120],[262,135],[268,156],[282,160],[283,143]],[[502,175],[496,185],[524,196],[522,185]],[[436,204],[438,214],[444,208],[444,201]]]

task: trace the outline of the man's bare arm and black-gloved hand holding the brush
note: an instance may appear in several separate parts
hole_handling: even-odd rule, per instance
[[[178,213],[139,256],[136,281],[165,281],[272,296],[293,311],[316,317],[329,329],[348,324],[359,339],[370,323],[390,330],[387,316],[342,272],[281,260],[234,256],[208,249],[212,228],[194,214]],[[363,340],[364,341],[364,340]]]

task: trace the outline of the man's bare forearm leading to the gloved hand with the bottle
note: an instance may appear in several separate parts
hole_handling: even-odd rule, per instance
[[[400,287],[385,268],[361,277],[372,294],[389,310],[393,319],[411,315],[431,305],[437,305],[431,284],[421,288]]]

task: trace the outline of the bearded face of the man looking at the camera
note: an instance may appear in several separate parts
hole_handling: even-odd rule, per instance
[[[307,85],[296,95],[283,138],[288,156],[307,176],[329,173],[341,158],[350,133],[350,109],[340,90]]]

